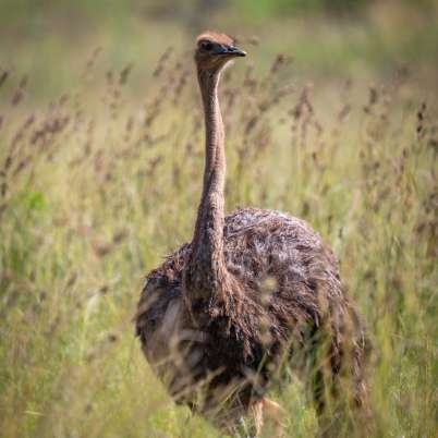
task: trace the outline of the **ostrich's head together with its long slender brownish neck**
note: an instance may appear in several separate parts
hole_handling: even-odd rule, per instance
[[[227,62],[245,53],[227,36],[211,41],[209,35],[198,38],[195,53],[197,77],[205,117],[205,169],[203,194],[198,207],[192,252],[184,272],[184,292],[193,308],[218,295],[227,282],[223,257],[224,224],[224,131],[219,107],[220,73]]]

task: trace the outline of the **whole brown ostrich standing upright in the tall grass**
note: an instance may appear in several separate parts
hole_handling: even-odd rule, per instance
[[[311,389],[319,419],[333,417],[333,400],[366,406],[367,343],[337,259],[304,220],[257,208],[224,216],[218,86],[224,65],[245,54],[227,35],[197,37],[206,144],[194,235],[148,273],[135,324],[177,402],[224,427],[253,413],[258,434],[264,417],[281,423],[266,393],[288,367]]]

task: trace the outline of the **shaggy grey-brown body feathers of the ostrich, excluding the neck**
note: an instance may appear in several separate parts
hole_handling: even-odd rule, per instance
[[[316,333],[325,330],[330,373],[351,374],[356,402],[365,402],[367,340],[340,282],[338,263],[320,236],[303,220],[255,208],[227,216],[223,235],[232,280],[223,300],[210,303],[205,321],[194,323],[183,305],[182,276],[190,244],[149,272],[138,304],[136,332],[146,356],[150,355],[148,337],[169,306],[179,305],[181,311],[161,339],[177,345],[173,351],[166,346],[161,357],[172,364],[172,381],[184,381],[170,387],[175,399],[194,404],[197,385],[205,381],[208,402],[200,406],[203,412],[217,407],[216,394],[227,389],[232,407],[245,411],[279,377],[284,354],[290,364],[306,362]],[[187,333],[194,333],[188,342]],[[293,351],[292,345],[302,351]],[[191,356],[197,361],[191,363]],[[157,370],[160,375],[159,366]],[[209,376],[215,377],[209,381]],[[232,389],[236,382],[239,390]]]

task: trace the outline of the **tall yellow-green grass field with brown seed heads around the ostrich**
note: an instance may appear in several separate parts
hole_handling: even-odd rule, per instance
[[[221,89],[227,210],[284,210],[323,234],[374,344],[376,437],[434,437],[438,27],[425,36],[435,19],[389,11],[246,24],[251,56]],[[39,42],[10,31],[0,53],[4,438],[221,436],[167,397],[131,321],[143,276],[193,232],[192,35],[111,26],[68,49],[71,28]],[[272,397],[288,436],[316,434],[299,381]]]

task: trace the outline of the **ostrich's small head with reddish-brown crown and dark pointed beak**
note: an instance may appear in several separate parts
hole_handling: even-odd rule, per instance
[[[199,71],[219,72],[228,61],[246,53],[228,35],[206,32],[196,39],[195,61]]]

